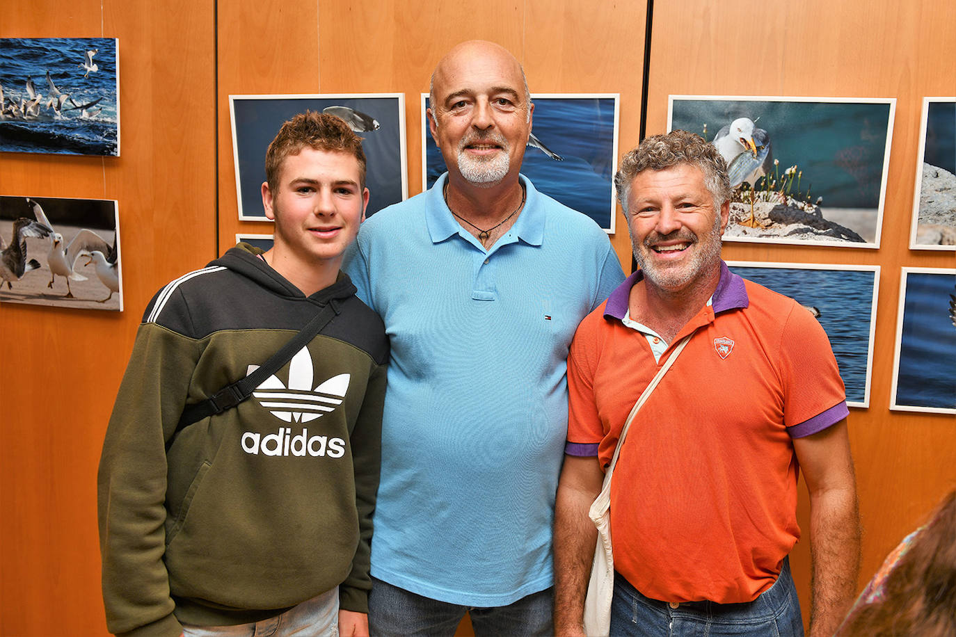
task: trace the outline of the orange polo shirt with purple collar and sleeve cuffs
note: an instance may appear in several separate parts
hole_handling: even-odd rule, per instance
[[[566,453],[606,467],[624,420],[658,372],[621,323],[631,275],[576,331],[568,358]],[[712,304],[641,408],[611,482],[616,570],[665,602],[750,602],[800,537],[792,437],[848,414],[826,333],[793,299],[723,263]]]

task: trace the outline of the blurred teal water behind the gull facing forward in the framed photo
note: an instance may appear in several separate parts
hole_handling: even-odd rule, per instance
[[[738,117],[768,132],[780,175],[794,164],[803,171],[801,192],[810,187],[828,207],[879,208],[890,104],[675,98],[671,129],[712,141]]]

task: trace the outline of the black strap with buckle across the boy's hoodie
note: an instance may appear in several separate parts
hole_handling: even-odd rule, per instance
[[[281,350],[272,354],[269,360],[263,363],[259,369],[250,373],[245,378],[241,378],[231,385],[227,385],[209,398],[206,398],[206,400],[186,405],[183,414],[180,416],[179,424],[176,425],[176,431],[173,432],[172,437],[169,438],[170,443],[176,434],[186,426],[194,422],[199,422],[210,415],[222,414],[243,400],[246,400],[246,398],[249,398],[252,392],[255,391],[255,388],[261,385],[263,381],[269,378],[273,373],[278,372],[283,365],[292,359],[296,351],[305,347],[325,326],[329,325],[329,322],[338,315],[339,311],[341,310],[338,308],[336,299],[330,299],[325,308],[322,308],[315,314],[315,317],[309,321],[304,328],[300,329]]]

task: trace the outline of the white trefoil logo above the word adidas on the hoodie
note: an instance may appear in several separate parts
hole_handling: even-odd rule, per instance
[[[258,369],[250,365],[246,375]],[[308,348],[295,352],[289,363],[288,387],[272,374],[264,380],[252,395],[259,404],[276,418],[286,422],[309,422],[329,412],[334,412],[342,404],[342,398],[349,389],[351,374],[340,373],[312,389],[313,366]]]

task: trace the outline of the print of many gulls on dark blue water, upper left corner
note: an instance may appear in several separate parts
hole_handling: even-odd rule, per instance
[[[120,155],[117,39],[0,38],[0,151]]]

